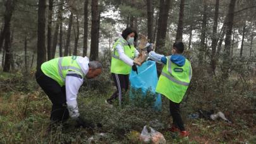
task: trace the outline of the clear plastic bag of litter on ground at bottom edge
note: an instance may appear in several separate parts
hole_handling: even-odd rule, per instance
[[[140,140],[145,143],[164,144],[166,139],[162,133],[155,131],[155,129],[144,126],[142,133],[140,134]]]

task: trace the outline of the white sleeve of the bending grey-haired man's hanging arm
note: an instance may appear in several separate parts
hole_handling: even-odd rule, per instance
[[[78,74],[66,76],[66,104],[68,105],[68,112],[71,118],[79,116],[78,104],[76,101],[77,93],[81,85],[83,84],[83,78],[78,77]]]

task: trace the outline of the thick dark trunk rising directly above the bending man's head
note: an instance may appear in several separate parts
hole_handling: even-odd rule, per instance
[[[92,27],[91,27],[90,59],[99,58],[99,8],[98,0],[92,1]]]

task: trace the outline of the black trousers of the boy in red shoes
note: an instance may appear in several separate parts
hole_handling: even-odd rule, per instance
[[[169,100],[169,109],[171,116],[173,117],[173,125],[180,129],[180,131],[185,131],[184,123],[180,115],[180,103],[175,103]]]

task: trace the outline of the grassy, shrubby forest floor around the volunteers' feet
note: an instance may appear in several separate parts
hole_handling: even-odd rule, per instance
[[[95,143],[141,143],[138,137],[145,125],[161,132],[166,143],[256,143],[255,111],[235,109],[232,116],[230,111],[223,111],[232,123],[190,119],[188,115],[197,112],[192,107],[195,104],[183,102],[181,112],[190,136],[180,138],[166,130],[171,124],[167,99],[162,97],[161,112],[143,104],[134,106],[128,95],[122,107],[116,100],[111,109],[104,100],[114,88],[106,83],[98,85],[99,89],[87,85],[78,95],[80,114],[95,124],[94,129],[75,128],[75,122],[69,120],[68,126],[48,131],[51,102],[33,73],[0,73],[0,85],[0,143],[87,143],[91,136]]]

